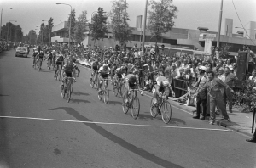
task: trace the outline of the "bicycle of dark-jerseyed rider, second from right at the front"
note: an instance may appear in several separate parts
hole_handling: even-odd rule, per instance
[[[131,93],[128,94],[128,100],[129,100],[128,104],[125,103],[125,93],[124,93],[123,104],[122,104],[123,112],[126,114],[129,111],[129,109],[131,109],[131,116],[134,119],[137,119],[140,113],[140,100],[139,98],[137,98],[137,91],[141,91],[141,90],[131,89]]]

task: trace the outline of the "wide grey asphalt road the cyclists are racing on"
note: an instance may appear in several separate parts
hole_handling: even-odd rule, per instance
[[[134,120],[112,91],[109,104],[98,100],[90,71],[82,67],[67,103],[54,72],[46,62],[34,70],[31,57],[0,53],[1,168],[256,167],[256,145],[241,134],[175,108],[166,125],[151,117],[147,96],[139,96],[141,113]]]

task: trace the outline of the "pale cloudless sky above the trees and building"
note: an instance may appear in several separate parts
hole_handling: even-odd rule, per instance
[[[241,23],[236,15],[232,0],[223,1],[222,24],[224,24],[225,18],[233,19],[233,33],[243,31],[242,29],[235,29],[236,26],[241,27],[241,23],[246,29],[249,29],[249,21],[256,21],[256,0],[233,0]],[[30,30],[37,29],[36,26],[41,25],[42,20],[49,20],[50,17],[54,19],[54,25],[61,23],[61,21],[67,21],[70,7],[56,5],[56,3],[70,4],[76,11],[76,17],[86,10],[87,18],[90,19],[91,14],[98,7],[109,12],[112,8],[111,2],[112,0],[0,0],[0,8],[4,8],[2,25],[9,20],[17,20],[13,23],[20,25],[24,35],[26,35]],[[129,5],[127,10],[130,16],[129,24],[135,26],[137,15],[144,14],[146,0],[126,0],[126,2]],[[178,9],[174,27],[194,30],[197,27],[207,27],[208,31],[218,31],[221,0],[173,0],[173,4]],[[47,24],[47,22],[44,23]],[[35,31],[38,33],[39,29]],[[224,34],[224,26],[222,26],[221,31]]]

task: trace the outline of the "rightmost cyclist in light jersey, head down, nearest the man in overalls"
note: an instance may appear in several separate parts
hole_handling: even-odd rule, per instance
[[[154,106],[158,106],[158,99],[159,98],[168,98],[168,94],[166,93],[164,95],[161,95],[160,92],[172,92],[172,96],[174,95],[174,92],[172,90],[172,87],[169,83],[169,81],[164,76],[159,76],[156,78],[156,84],[154,85],[155,91],[154,91]]]

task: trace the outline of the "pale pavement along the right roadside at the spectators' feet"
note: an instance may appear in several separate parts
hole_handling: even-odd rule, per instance
[[[83,66],[84,69],[90,70],[90,68],[87,68],[84,66],[84,64],[80,64],[80,66]],[[154,95],[150,92],[144,92],[144,94],[148,95],[149,97],[153,97]],[[183,112],[189,113],[190,115],[194,115],[193,111],[196,110],[194,106],[187,106],[181,103],[178,103],[177,101],[169,101],[172,106],[174,106],[176,109],[180,109]],[[244,134],[248,137],[252,137],[252,123],[253,123],[253,113],[242,113],[242,108],[237,109],[236,107],[233,107],[232,113],[229,112],[229,109],[227,109],[228,115],[230,116],[231,122],[228,122],[227,120],[220,120],[221,115],[216,116],[216,122],[215,124],[218,126],[223,126],[227,129],[230,129],[234,132],[239,132],[241,134]],[[207,117],[207,120],[205,122],[208,122],[209,117]],[[201,122],[201,120],[199,120]],[[255,126],[255,124],[254,124]]]

